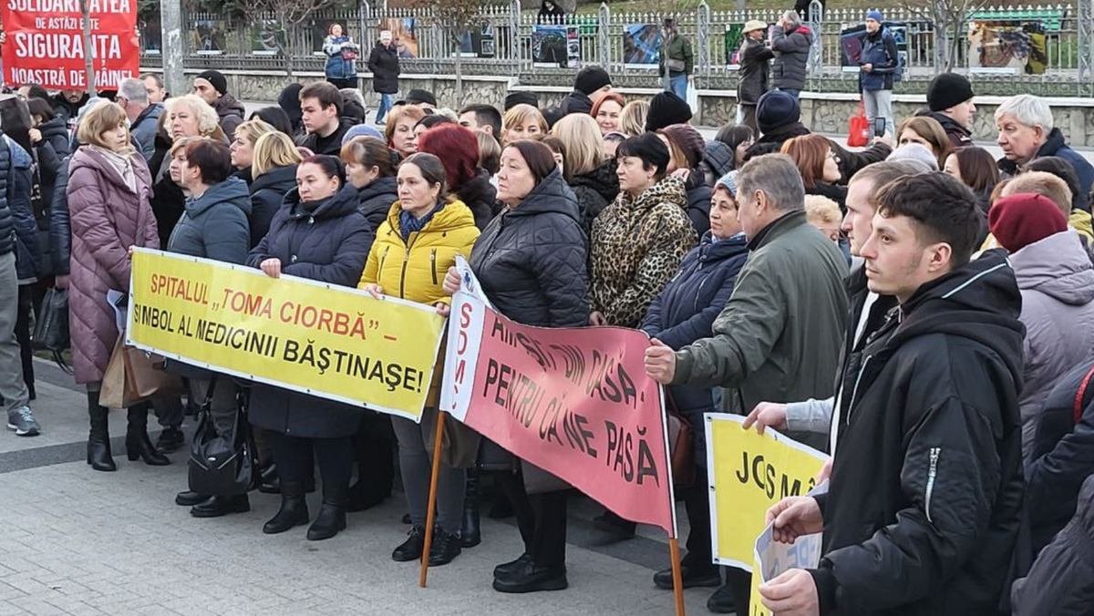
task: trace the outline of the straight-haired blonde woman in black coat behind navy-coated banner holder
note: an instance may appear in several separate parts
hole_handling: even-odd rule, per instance
[[[255,142],[251,173],[251,247],[254,248],[269,232],[274,216],[281,209],[284,197],[296,187],[300,151],[282,132],[263,135]]]

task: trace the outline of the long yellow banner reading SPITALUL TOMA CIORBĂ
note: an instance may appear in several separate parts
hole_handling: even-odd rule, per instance
[[[138,249],[126,342],[168,358],[420,420],[444,317],[432,306]]]

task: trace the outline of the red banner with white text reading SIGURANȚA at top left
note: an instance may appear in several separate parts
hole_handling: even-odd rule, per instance
[[[140,72],[137,0],[86,0],[95,86],[117,90]],[[80,0],[3,0],[3,82],[86,90]]]

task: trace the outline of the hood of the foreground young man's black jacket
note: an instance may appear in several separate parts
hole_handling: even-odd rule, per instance
[[[987,251],[920,287],[899,307],[900,323],[880,352],[892,352],[919,336],[961,336],[996,351],[1014,382],[1021,383],[1025,337],[1021,313],[1022,294],[1005,251]]]

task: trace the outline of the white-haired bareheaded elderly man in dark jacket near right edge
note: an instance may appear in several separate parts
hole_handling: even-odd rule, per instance
[[[1019,167],[1034,159],[1059,156],[1075,167],[1079,188],[1089,195],[1094,184],[1094,166],[1068,147],[1063,132],[1054,126],[1052,109],[1044,98],[1032,94],[1012,96],[996,109],[996,127],[1003,149],[999,171],[1004,177],[1019,174]]]

